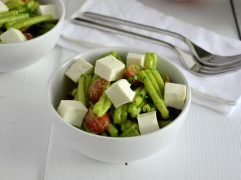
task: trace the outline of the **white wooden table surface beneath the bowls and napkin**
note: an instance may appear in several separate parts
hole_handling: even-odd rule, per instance
[[[141,1],[186,22],[238,37],[228,0],[186,6]],[[67,147],[58,133],[50,133],[46,87],[53,70],[75,54],[56,46],[33,66],[0,74],[0,180],[241,179],[241,105],[224,116],[192,104],[173,144],[128,165],[98,162]]]

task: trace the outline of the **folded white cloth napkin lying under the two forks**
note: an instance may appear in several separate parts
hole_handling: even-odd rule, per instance
[[[73,16],[78,16],[84,11],[96,12],[175,31],[192,39],[196,44],[215,54],[233,55],[241,53],[240,41],[222,37],[201,27],[196,27],[167,16],[160,11],[145,6],[138,0],[88,0]],[[175,38],[141,30],[140,32],[160,38],[187,50],[187,47]],[[176,63],[185,73],[192,88],[192,102],[218,112],[230,113],[240,99],[241,83],[239,81],[241,70],[219,76],[198,77],[184,68],[173,51],[160,45],[78,26],[68,20],[65,22],[62,38],[58,44],[78,52],[99,46],[131,46],[146,51],[155,51],[158,55]]]

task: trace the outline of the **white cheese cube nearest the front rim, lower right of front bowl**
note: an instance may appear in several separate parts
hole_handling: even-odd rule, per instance
[[[137,121],[141,134],[147,134],[159,130],[156,111],[139,114],[137,116]]]

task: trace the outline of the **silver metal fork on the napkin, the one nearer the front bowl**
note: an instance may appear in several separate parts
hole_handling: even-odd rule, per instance
[[[174,45],[167,43],[165,41],[162,41],[160,39],[156,39],[156,38],[149,37],[149,36],[146,36],[143,34],[135,33],[133,31],[127,31],[125,29],[119,28],[116,26],[117,22],[114,22],[115,23],[114,25],[110,24],[113,22],[113,20],[116,21],[116,19],[117,18],[99,15],[99,14],[90,13],[90,12],[85,12],[85,13],[83,13],[82,17],[73,18],[72,22],[79,24],[79,25],[84,25],[84,26],[88,26],[91,28],[96,28],[99,30],[112,32],[112,33],[118,33],[118,34],[129,36],[129,37],[135,37],[135,38],[138,38],[141,40],[148,40],[152,43],[164,45],[165,47],[174,50],[174,52],[176,52],[176,54],[180,57],[182,63],[186,66],[186,68],[190,72],[192,72],[196,75],[217,75],[217,74],[221,74],[221,73],[235,71],[235,70],[238,70],[239,68],[241,68],[241,63],[238,63],[238,62],[233,62],[229,65],[224,64],[224,63],[222,65],[213,65],[213,64],[210,65],[210,63],[212,63],[212,62],[208,62],[208,60],[205,60],[205,61],[201,60],[201,58],[198,56],[197,53],[188,54],[188,53],[182,51],[177,46],[174,46]],[[132,23],[134,23],[134,22],[129,22],[129,21],[120,20],[120,19],[117,19],[117,20],[118,20],[118,23],[122,24],[122,25],[124,24],[124,25],[130,26],[130,25],[132,25]],[[106,23],[106,22],[109,22],[109,23]],[[137,23],[134,23],[134,24],[137,24]],[[146,25],[143,26],[142,24],[138,24],[138,28],[143,29],[143,27],[148,27],[148,29],[145,28],[146,30],[151,30],[149,28],[153,28],[150,26],[146,26]],[[159,30],[161,30],[161,29],[158,29],[158,31]],[[166,32],[166,34],[169,35],[169,31],[166,31],[166,30],[164,30],[164,31]],[[177,33],[173,34],[171,32],[171,34],[174,37],[177,37],[181,40],[184,39],[182,35],[179,35]]]

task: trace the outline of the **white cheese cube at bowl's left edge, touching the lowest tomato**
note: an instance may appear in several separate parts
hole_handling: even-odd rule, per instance
[[[80,101],[61,100],[57,112],[65,122],[81,127],[88,109]]]

